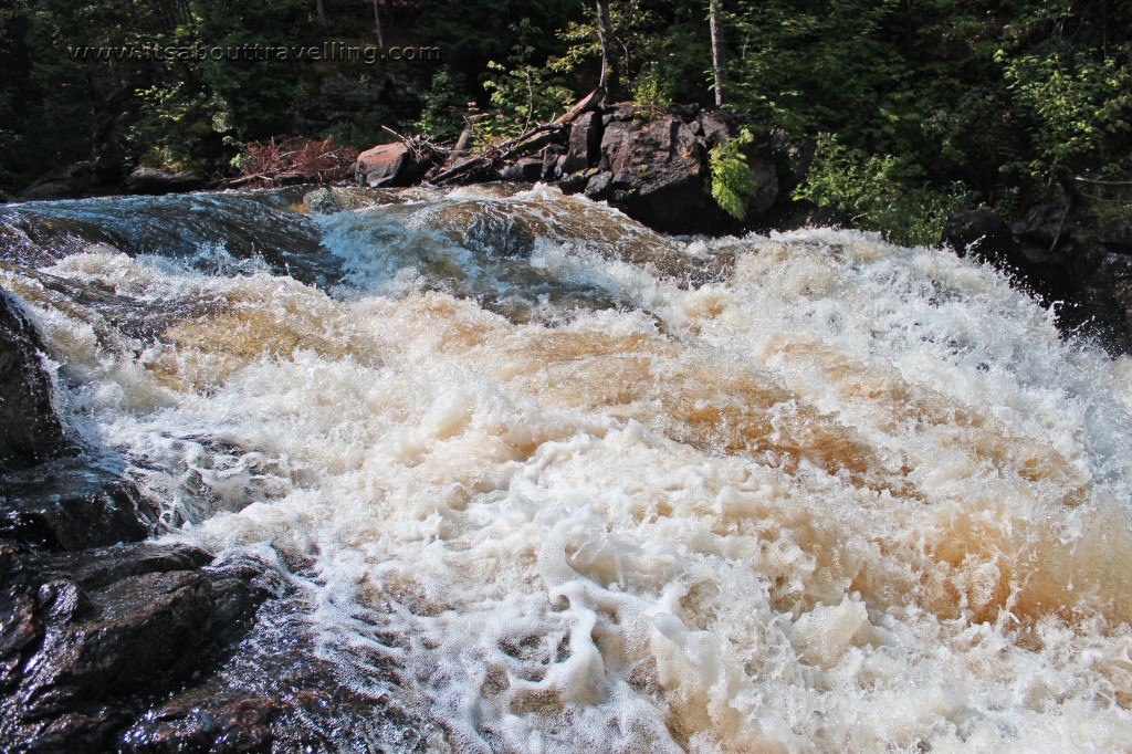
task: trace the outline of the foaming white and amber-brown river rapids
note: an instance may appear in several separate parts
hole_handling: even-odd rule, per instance
[[[0,209],[0,284],[168,537],[275,558],[417,746],[1129,746],[1129,359],[856,232],[300,197]]]

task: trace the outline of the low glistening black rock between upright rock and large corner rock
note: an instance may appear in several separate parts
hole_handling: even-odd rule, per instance
[[[0,538],[23,549],[83,550],[149,535],[154,511],[114,469],[60,460],[0,480]]]

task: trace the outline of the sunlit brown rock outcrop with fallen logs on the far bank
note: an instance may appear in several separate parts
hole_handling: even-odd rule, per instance
[[[632,103],[591,102],[526,137],[483,155],[451,158],[411,142],[363,152],[358,181],[369,187],[441,186],[492,180],[557,185],[584,194],[666,233],[722,235],[808,219],[790,198],[811,152],[804,140],[775,138],[746,151],[755,187],[747,216],[736,220],[711,198],[709,153],[738,132],[726,111],[658,113]]]

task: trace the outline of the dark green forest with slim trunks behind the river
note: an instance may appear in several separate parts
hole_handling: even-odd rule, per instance
[[[714,103],[709,2],[609,0],[616,98]],[[955,208],[1127,214],[1132,2],[720,0],[726,106],[814,147],[797,196],[916,240]],[[239,169],[249,144],[479,144],[554,118],[601,74],[592,0],[3,0],[0,197],[53,166]],[[436,46],[439,61],[72,61],[100,45]],[[808,160],[808,157],[807,157]]]

